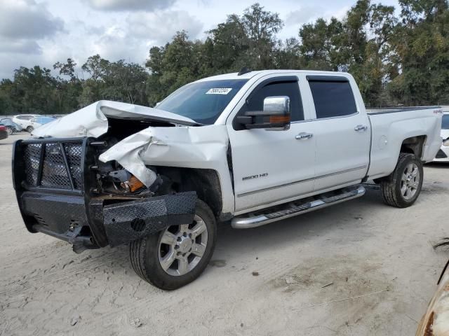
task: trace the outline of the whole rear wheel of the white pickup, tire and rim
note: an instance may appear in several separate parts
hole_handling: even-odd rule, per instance
[[[413,154],[401,153],[394,172],[380,183],[384,202],[392,207],[410,207],[420,195],[423,180],[422,162]]]

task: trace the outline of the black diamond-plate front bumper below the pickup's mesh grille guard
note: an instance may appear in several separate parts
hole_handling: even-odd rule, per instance
[[[62,198],[63,203],[48,203],[49,198]],[[83,210],[84,204],[69,197],[36,197],[22,195],[21,210],[29,218],[36,216],[39,221],[32,224],[34,232],[42,232],[73,244],[74,251],[80,253],[86,248],[99,248],[95,237],[83,234],[84,226],[91,226]],[[98,206],[99,204],[97,204]],[[107,204],[96,207],[96,221],[102,221],[109,246],[127,244],[168,228],[170,225],[190,224],[194,220],[196,193],[177,193],[142,200]],[[92,209],[88,209],[92,211]],[[88,211],[89,212],[89,211]],[[78,221],[74,224],[74,219]]]

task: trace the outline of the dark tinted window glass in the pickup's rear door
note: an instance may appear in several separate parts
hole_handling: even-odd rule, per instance
[[[309,85],[317,119],[349,116],[357,112],[348,81],[309,80]]]

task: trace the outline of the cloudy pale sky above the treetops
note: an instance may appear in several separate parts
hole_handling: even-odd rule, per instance
[[[19,66],[53,69],[72,58],[80,67],[100,54],[109,61],[145,64],[149,48],[185,29],[192,39],[241,15],[256,0],[0,0],[0,78]],[[356,0],[260,0],[279,13],[285,27],[278,38],[297,36],[316,18],[342,18]],[[377,1],[375,1],[377,2]],[[382,0],[398,8],[396,0]],[[80,71],[80,70],[79,70]],[[82,77],[83,73],[79,73]]]

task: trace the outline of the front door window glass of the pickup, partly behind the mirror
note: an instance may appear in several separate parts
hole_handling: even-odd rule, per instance
[[[262,111],[264,99],[274,96],[288,96],[290,98],[291,120],[304,120],[304,111],[302,111],[302,101],[300,96],[300,87],[297,81],[280,81],[267,83],[262,87],[257,87],[247,99],[247,104],[243,105],[239,115],[246,111]]]

